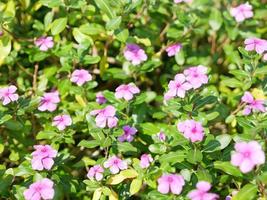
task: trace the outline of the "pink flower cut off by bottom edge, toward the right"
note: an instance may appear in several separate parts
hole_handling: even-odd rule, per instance
[[[209,193],[211,185],[206,181],[199,181],[197,188],[188,193],[187,197],[190,200],[216,200],[219,196],[214,193]]]

